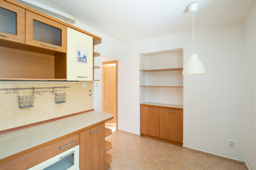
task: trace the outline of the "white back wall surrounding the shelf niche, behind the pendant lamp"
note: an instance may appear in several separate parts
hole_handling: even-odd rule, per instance
[[[139,55],[183,48],[191,55],[191,33],[129,44],[120,62],[119,129],[139,134]],[[242,160],[245,132],[245,28],[233,23],[196,31],[196,51],[206,75],[184,77],[186,147]],[[235,141],[235,148],[228,147]]]

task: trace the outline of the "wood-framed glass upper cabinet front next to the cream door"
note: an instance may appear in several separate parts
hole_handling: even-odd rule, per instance
[[[67,52],[67,27],[26,11],[26,44]]]

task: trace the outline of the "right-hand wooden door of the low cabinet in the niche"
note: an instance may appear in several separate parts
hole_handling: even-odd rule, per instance
[[[183,143],[183,111],[161,108],[160,137]]]

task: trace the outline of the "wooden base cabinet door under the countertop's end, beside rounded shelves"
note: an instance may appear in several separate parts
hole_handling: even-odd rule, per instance
[[[80,132],[80,170],[105,167],[105,123]]]

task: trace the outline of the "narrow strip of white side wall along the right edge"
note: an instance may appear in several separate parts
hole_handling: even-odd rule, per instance
[[[247,100],[245,118],[245,158],[252,169],[256,169],[256,5],[245,21],[247,46]]]

